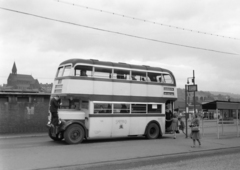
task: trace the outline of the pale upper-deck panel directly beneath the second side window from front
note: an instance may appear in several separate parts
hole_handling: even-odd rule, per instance
[[[94,81],[93,94],[112,95],[112,82],[109,81]]]

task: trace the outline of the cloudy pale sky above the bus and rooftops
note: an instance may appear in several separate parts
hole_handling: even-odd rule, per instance
[[[82,58],[165,68],[178,88],[194,70],[199,91],[240,94],[239,0],[0,0],[0,21],[0,85],[14,62],[52,83]]]

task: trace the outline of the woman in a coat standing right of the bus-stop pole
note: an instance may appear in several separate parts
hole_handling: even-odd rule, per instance
[[[200,130],[199,130],[200,120],[198,118],[198,114],[195,114],[191,121],[191,138],[193,140],[193,146],[192,148],[196,147],[195,143],[198,141],[199,147],[201,147],[201,141],[200,141]]]

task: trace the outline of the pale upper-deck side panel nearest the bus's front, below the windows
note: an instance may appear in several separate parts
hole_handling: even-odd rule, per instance
[[[62,93],[93,94],[93,81],[69,79],[62,82]],[[67,86],[67,89],[65,89],[65,86]]]

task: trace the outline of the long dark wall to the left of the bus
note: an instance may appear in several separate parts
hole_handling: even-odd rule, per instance
[[[47,132],[50,94],[0,94],[0,134]]]

